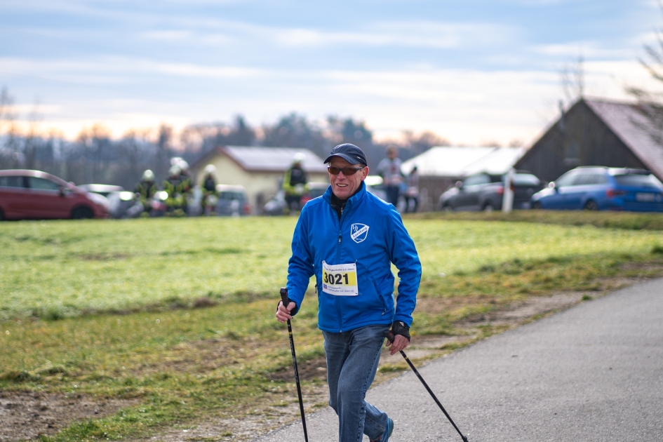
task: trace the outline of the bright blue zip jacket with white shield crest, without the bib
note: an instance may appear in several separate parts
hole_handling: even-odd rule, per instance
[[[362,182],[339,220],[330,205],[331,193],[329,187],[323,196],[307,202],[297,221],[288,263],[288,297],[301,307],[309,279],[315,275],[321,330],[340,333],[393,321],[410,326],[421,262],[401,215],[394,206],[367,192]],[[323,261],[331,265],[356,263],[359,295],[323,291]],[[399,269],[396,312],[390,263]]]

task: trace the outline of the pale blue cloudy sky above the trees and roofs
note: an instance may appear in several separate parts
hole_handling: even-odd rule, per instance
[[[663,87],[638,63],[660,27],[655,0],[2,0],[0,87],[67,138],[297,112],[530,145],[579,57],[586,95]]]

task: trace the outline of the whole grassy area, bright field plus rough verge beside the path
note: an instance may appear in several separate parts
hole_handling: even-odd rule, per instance
[[[424,272],[413,333],[464,333],[462,321],[528,297],[601,293],[617,277],[663,274],[661,232],[588,220],[406,219]],[[139,401],[44,441],[126,440],[296,401],[279,375],[290,351],[273,319],[294,225],[288,217],[1,223],[0,391]],[[315,297],[295,325],[300,363],[319,359]],[[484,327],[479,338],[499,330]],[[321,382],[309,379],[305,391]]]

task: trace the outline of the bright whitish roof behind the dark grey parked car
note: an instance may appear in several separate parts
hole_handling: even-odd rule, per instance
[[[464,177],[473,173],[507,173],[523,156],[523,147],[431,147],[408,159],[401,171],[417,166],[421,176]]]

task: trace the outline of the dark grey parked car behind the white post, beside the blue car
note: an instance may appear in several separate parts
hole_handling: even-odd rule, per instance
[[[507,175],[477,173],[456,183],[455,187],[441,194],[441,210],[502,210],[504,182]],[[535,175],[525,170],[514,173],[511,189],[514,191],[514,209],[530,208],[532,195],[540,191],[543,184]]]

